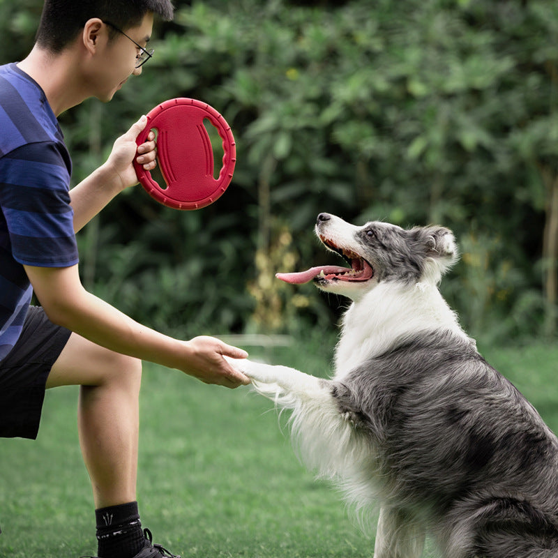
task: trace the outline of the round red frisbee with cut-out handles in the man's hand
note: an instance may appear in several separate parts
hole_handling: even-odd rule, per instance
[[[213,148],[204,126],[208,119],[223,140],[223,167],[213,176]],[[230,126],[213,107],[196,99],[165,101],[147,114],[137,145],[157,132],[157,159],[165,185],[160,186],[134,159],[137,178],[161,204],[174,209],[200,209],[216,201],[232,180],[236,146]]]

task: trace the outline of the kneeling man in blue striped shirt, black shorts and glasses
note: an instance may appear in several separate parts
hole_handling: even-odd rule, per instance
[[[153,15],[169,0],[45,0],[36,45],[0,67],[0,436],[35,438],[45,389],[77,384],[78,429],[96,506],[100,558],[172,556],[142,531],[136,503],[141,361],[203,382],[248,384],[215,338],[181,341],[148,329],[86,292],[75,232],[153,169],[143,116],[106,163],[69,191],[71,162],[56,116],[85,98],[108,101],[142,73]],[[34,291],[42,308],[29,308]],[[44,310],[43,310],[44,309]]]

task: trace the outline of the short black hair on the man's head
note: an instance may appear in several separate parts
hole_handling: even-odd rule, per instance
[[[50,52],[61,52],[92,17],[125,30],[139,25],[148,12],[170,21],[174,8],[171,0],[45,0],[36,42]],[[116,34],[110,31],[110,36]]]

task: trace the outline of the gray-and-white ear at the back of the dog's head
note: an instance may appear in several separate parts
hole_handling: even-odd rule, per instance
[[[446,227],[437,226],[420,227],[415,230],[425,255],[425,278],[439,282],[444,273],[459,259],[453,232]]]

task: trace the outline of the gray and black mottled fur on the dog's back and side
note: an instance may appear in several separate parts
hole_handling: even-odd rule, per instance
[[[446,556],[558,556],[557,439],[469,343],[424,332],[331,393],[375,446],[389,503],[427,517]]]

